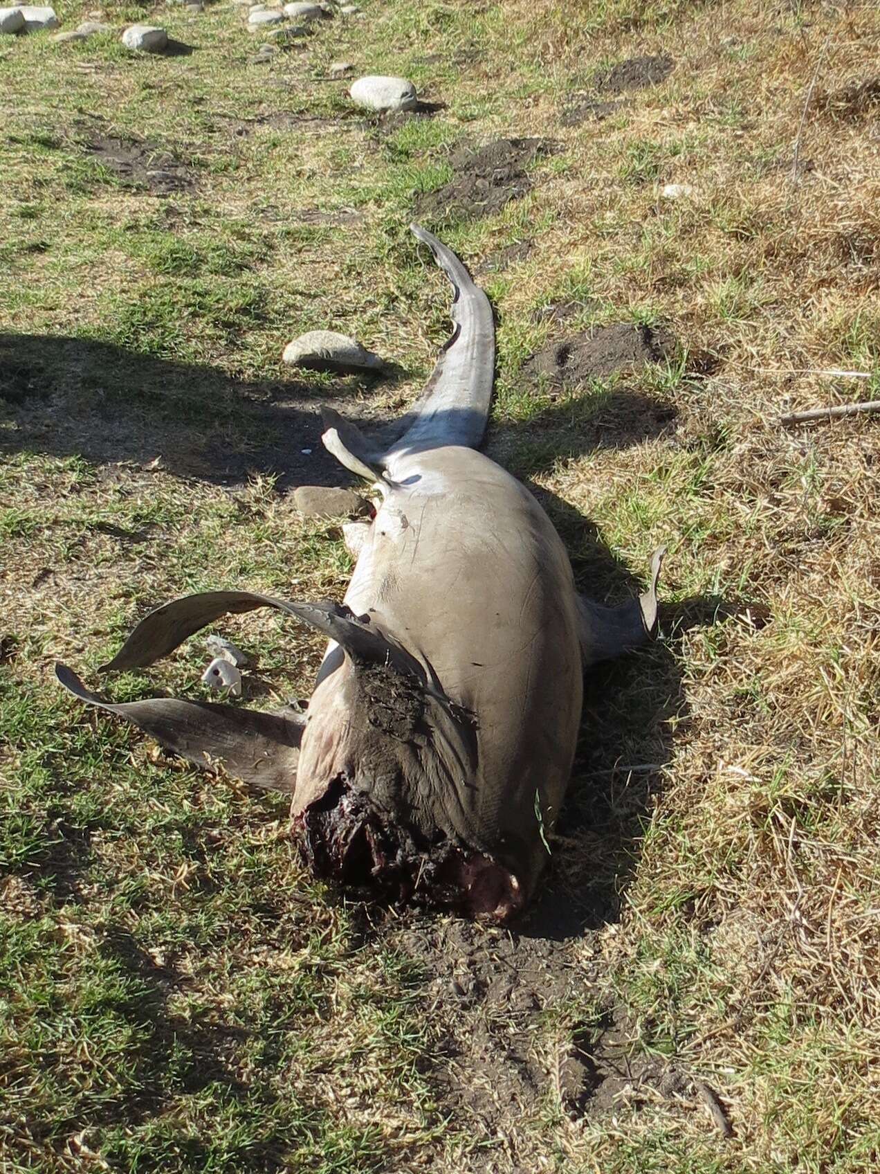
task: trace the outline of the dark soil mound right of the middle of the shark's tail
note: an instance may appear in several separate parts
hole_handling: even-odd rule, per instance
[[[617,323],[551,343],[533,355],[522,372],[534,383],[563,390],[661,362],[672,349],[673,339],[665,331]]]

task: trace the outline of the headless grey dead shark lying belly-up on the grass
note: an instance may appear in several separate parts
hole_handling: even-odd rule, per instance
[[[113,704],[66,666],[74,696],[208,769],[289,791],[313,870],[399,900],[505,922],[534,893],[571,774],[583,672],[644,643],[645,593],[608,608],[578,594],[536,499],[478,451],[488,419],[492,309],[419,225],[454,289],[454,331],[397,434],[371,443],[325,412],[324,444],[378,491],[348,538],[341,605],[250,592],[157,608],[104,670],[140,668],[219,616],[276,608],[329,637],[307,713],[175,699]]]

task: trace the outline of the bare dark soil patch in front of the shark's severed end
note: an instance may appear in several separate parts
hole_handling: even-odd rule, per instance
[[[426,1019],[444,1025],[431,1084],[468,1134],[495,1140],[512,1120],[539,1116],[554,1094],[580,1120],[690,1092],[678,1068],[634,1047],[637,1032],[620,1008],[577,1020],[603,981],[598,957],[584,964],[595,931],[557,940],[418,915],[388,924],[384,944],[426,972],[419,998]],[[560,1043],[536,1048],[548,1016],[560,1017]],[[490,1151],[472,1161],[480,1165],[463,1169],[495,1169]]]

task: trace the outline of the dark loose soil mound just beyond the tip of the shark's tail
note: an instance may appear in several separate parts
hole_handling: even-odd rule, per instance
[[[497,139],[479,150],[461,148],[449,157],[455,177],[417,200],[417,212],[427,220],[448,212],[490,216],[532,189],[529,164],[554,149],[544,139]]]

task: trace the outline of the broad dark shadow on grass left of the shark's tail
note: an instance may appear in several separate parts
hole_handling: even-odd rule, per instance
[[[158,458],[170,473],[229,486],[259,473],[282,490],[347,484],[320,443],[320,406],[357,416],[359,391],[374,382],[233,379],[110,343],[0,333],[0,453],[99,466]]]

